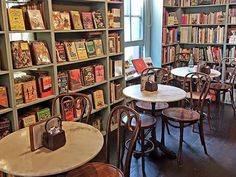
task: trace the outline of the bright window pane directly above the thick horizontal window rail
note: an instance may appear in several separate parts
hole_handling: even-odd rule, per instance
[[[143,25],[141,19],[139,17],[132,17],[131,24],[132,24],[132,41],[142,40]]]

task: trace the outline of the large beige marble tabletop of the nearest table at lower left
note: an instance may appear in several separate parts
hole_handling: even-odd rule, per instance
[[[78,122],[63,122],[66,144],[51,151],[44,147],[31,152],[29,128],[0,141],[0,171],[16,176],[47,176],[75,169],[93,159],[104,139],[99,130]]]

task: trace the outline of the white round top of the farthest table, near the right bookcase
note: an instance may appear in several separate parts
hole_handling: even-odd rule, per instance
[[[171,70],[171,74],[179,77],[185,77],[188,73],[190,73],[190,68],[189,67],[179,67],[179,68],[174,68]],[[210,77],[219,77],[221,73],[215,69],[211,69]]]

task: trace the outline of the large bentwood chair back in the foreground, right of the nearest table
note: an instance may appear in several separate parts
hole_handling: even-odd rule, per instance
[[[122,118],[126,116],[127,121],[124,123]],[[117,131],[112,132],[112,124],[114,119],[117,122]],[[131,126],[131,121],[136,122],[136,126]],[[110,153],[115,154],[115,163],[117,168],[120,168],[125,177],[130,176],[130,164],[131,157],[135,147],[135,143],[140,130],[140,117],[139,114],[132,108],[124,105],[116,106],[112,109],[109,114],[107,127],[106,127],[106,160],[107,163],[111,162]],[[127,152],[125,153],[125,137],[129,135],[130,142],[127,148]],[[114,142],[115,141],[115,142]],[[110,151],[110,146],[116,143],[115,152]],[[124,155],[126,154],[126,155]]]

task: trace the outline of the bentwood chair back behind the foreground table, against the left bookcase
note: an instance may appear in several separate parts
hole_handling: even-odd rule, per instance
[[[88,123],[92,110],[89,97],[83,93],[64,93],[56,96],[52,101],[52,115],[57,114],[56,102],[60,104],[60,116],[62,120],[78,119],[80,122]]]

